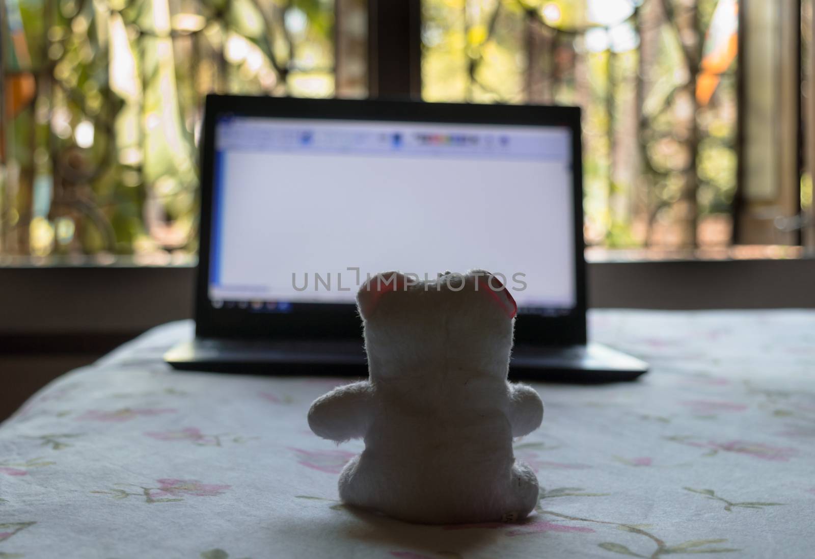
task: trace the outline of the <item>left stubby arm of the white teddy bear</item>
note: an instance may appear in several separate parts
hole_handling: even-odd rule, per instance
[[[336,442],[361,438],[371,417],[372,385],[354,382],[317,398],[308,411],[308,425],[318,437]]]

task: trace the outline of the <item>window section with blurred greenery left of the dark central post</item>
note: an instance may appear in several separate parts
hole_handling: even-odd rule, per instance
[[[5,7],[7,259],[186,262],[196,253],[203,95],[335,90],[330,0]]]

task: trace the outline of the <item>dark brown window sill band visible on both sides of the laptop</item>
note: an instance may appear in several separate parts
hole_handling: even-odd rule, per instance
[[[192,317],[195,266],[0,266],[0,350],[25,337],[132,337]],[[815,308],[815,258],[597,262],[593,308]],[[30,344],[30,340],[29,340]],[[35,344],[36,345],[36,344]],[[33,349],[33,347],[32,347]],[[46,348],[43,348],[46,349]]]

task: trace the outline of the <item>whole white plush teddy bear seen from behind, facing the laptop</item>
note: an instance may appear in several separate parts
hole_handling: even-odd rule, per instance
[[[488,275],[360,288],[370,377],[308,413],[319,437],[365,441],[340,474],[346,503],[428,524],[512,521],[535,507],[538,481],[512,438],[537,429],[544,407],[507,382],[514,302],[505,288],[486,293]]]

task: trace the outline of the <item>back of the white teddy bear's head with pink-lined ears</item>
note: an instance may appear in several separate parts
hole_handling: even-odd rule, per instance
[[[487,271],[427,281],[384,272],[359,288],[357,303],[373,381],[507,375],[517,306]]]

